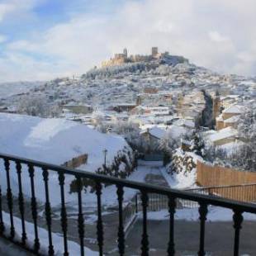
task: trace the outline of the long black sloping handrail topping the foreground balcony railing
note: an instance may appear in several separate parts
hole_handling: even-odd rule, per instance
[[[47,168],[50,171],[62,172],[62,173],[70,174],[73,176],[79,176],[80,178],[90,178],[102,183],[111,183],[111,184],[119,185],[122,187],[130,187],[143,192],[155,192],[159,194],[164,194],[168,197],[187,199],[190,201],[197,201],[198,203],[201,203],[201,204],[220,206],[220,207],[225,207],[233,210],[235,209],[236,211],[240,211],[240,212],[245,211],[250,213],[256,213],[256,205],[248,202],[240,202],[240,201],[235,201],[235,200],[230,200],[230,199],[225,199],[220,197],[181,191],[178,189],[173,189],[168,187],[160,187],[160,186],[151,185],[147,183],[139,183],[139,182],[130,181],[127,179],[109,177],[102,174],[90,173],[88,171],[83,171],[80,169],[65,168],[56,164],[47,164],[47,163],[32,160],[32,159],[21,158],[11,154],[0,154],[0,159],[7,159],[14,162],[19,162],[20,164],[33,165],[38,168]]]

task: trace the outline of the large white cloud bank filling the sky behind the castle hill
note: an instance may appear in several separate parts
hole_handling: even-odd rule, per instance
[[[84,73],[124,47],[147,54],[151,46],[159,46],[216,71],[255,74],[253,10],[253,0],[127,1],[112,15],[80,13],[47,31],[35,31],[31,38],[8,45],[7,58],[18,56],[23,63],[22,72],[15,70],[17,77],[40,73],[54,78]],[[22,61],[26,52],[28,63]],[[38,55],[45,56],[42,63]],[[13,59],[1,61],[8,61],[12,72]]]

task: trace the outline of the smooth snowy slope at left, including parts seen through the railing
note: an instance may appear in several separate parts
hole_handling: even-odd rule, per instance
[[[88,154],[88,164],[82,169],[94,172],[104,163],[103,149],[107,149],[107,164],[111,164],[114,157],[125,147],[129,149],[126,141],[117,135],[106,135],[87,126],[73,121],[62,119],[43,119],[32,116],[21,116],[0,113],[0,152],[14,154],[19,157],[36,159],[50,164],[64,164],[64,162],[81,154]],[[4,169],[3,161],[0,168]],[[11,164],[12,192],[17,195],[17,173],[14,164]],[[27,166],[22,165],[22,185],[26,197],[31,196],[31,183]],[[69,184],[73,176],[66,175],[65,196],[67,203],[72,206],[77,200],[76,194],[70,194]],[[5,179],[0,181],[2,189],[6,189]],[[45,201],[45,190],[42,170],[36,168],[35,172],[36,197]],[[49,178],[50,202],[52,206],[59,205],[59,176],[50,172]],[[109,190],[110,188],[106,188]],[[88,204],[96,198],[91,193],[85,195]],[[111,195],[107,194],[103,201],[109,201]]]

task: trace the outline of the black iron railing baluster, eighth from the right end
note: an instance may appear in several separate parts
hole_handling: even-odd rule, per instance
[[[68,239],[67,239],[68,220],[67,220],[67,211],[65,206],[64,181],[65,181],[64,173],[59,172],[59,187],[60,187],[60,200],[61,200],[60,222],[61,222],[61,228],[62,228],[63,239],[64,239],[64,256],[69,256]]]

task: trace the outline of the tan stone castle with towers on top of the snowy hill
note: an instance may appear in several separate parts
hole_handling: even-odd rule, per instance
[[[114,58],[102,62],[102,67],[115,66],[125,63],[135,63],[140,61],[150,61],[153,59],[160,59],[164,55],[168,55],[168,52],[159,54],[158,47],[152,47],[151,55],[130,55],[128,57],[128,50],[125,48],[122,54],[116,54]]]

